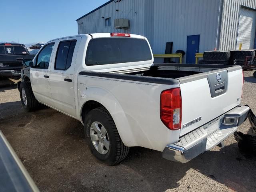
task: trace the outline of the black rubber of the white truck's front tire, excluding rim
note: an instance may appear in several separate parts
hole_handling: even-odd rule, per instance
[[[24,89],[25,93],[26,93],[26,99],[27,99],[27,104],[24,103],[23,98],[22,98],[22,89]],[[36,100],[32,88],[31,88],[31,84],[29,81],[25,81],[25,82],[21,82],[20,83],[20,100],[22,103],[23,108],[27,111],[33,111],[36,110],[36,108],[38,107],[39,103]]]

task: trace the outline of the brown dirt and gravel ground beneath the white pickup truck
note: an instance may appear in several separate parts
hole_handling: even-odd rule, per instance
[[[242,103],[256,113],[256,78],[244,73]],[[90,153],[80,122],[48,107],[26,113],[14,82],[0,85],[0,129],[42,192],[256,191],[256,157],[242,154],[234,136],[186,164],[134,147],[108,167]]]

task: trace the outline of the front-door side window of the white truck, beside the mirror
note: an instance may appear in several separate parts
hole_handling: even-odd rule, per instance
[[[54,43],[44,46],[36,58],[36,67],[48,69]]]

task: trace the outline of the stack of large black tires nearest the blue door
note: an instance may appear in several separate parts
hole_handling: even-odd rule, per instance
[[[205,51],[204,64],[228,65],[230,51]]]

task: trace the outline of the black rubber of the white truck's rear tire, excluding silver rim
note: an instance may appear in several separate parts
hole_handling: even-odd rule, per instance
[[[106,154],[100,154],[92,143],[90,128],[94,122],[100,122],[108,133],[110,145]],[[84,134],[92,154],[109,166],[118,164],[128,155],[129,147],[123,144],[113,119],[103,107],[93,109],[86,115],[84,119]]]

